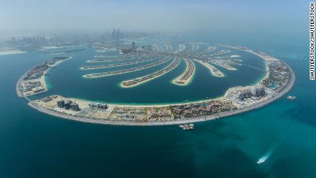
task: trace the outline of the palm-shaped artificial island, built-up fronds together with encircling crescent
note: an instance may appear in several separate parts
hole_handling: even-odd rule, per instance
[[[183,56],[180,54],[185,46],[179,46],[177,53],[175,54],[163,54],[163,50],[159,47],[156,50],[151,49],[151,47],[142,48],[142,52],[138,48],[133,47],[130,51],[123,52],[126,55],[137,55],[137,54],[146,54],[146,52],[151,52],[164,56],[165,58],[150,63],[148,65],[143,65],[140,67],[132,67],[129,69],[123,69],[118,71],[106,71],[102,73],[87,74],[85,77],[101,77],[101,76],[111,76],[116,74],[123,74],[129,71],[136,71],[140,69],[146,69],[148,67],[153,67],[161,63],[165,63],[170,60],[171,57],[174,57],[174,60],[170,65],[155,71],[152,74],[142,76],[139,78],[134,78],[132,80],[125,80],[121,83],[121,87],[133,87],[139,85],[142,82],[147,80],[153,80],[166,72],[174,69],[180,62],[180,59]],[[172,49],[168,45],[168,50]],[[199,49],[199,47],[194,46],[192,51]],[[208,52],[212,52],[216,47],[209,47],[207,52],[203,53],[206,55]],[[248,49],[244,49],[248,50]],[[229,51],[221,50],[213,56],[223,55]],[[248,52],[248,51],[247,51]],[[253,54],[263,56],[264,54],[254,53]],[[210,58],[201,57],[196,58],[196,61],[205,65],[209,68],[211,73],[214,76],[223,76],[221,71],[218,71],[216,67],[211,65],[215,63],[226,69],[236,70],[233,65],[240,65],[240,60],[221,60],[216,59],[212,60]],[[269,56],[263,56],[265,60],[270,59]],[[47,91],[45,86],[44,76],[47,75],[46,72],[49,68],[54,68],[54,66],[63,60],[66,60],[69,57],[57,57],[53,60],[45,62],[41,65],[35,66],[30,71],[27,71],[24,74],[16,86],[17,93],[21,96],[31,96],[36,93],[41,93]],[[185,73],[181,75],[177,82],[185,82],[188,80],[194,73],[194,63],[189,58],[185,58],[187,62],[187,69]],[[126,63],[129,64],[129,63]],[[111,66],[111,65],[109,65]],[[106,67],[109,67],[106,66]],[[95,68],[104,67],[104,65],[95,66]],[[247,109],[251,106],[255,106],[262,102],[262,100],[269,100],[276,96],[278,92],[281,92],[283,89],[291,83],[291,69],[280,60],[267,60],[267,76],[258,84],[247,86],[247,87],[234,87],[229,89],[225,96],[221,98],[216,98],[212,100],[205,100],[201,102],[191,102],[183,104],[169,104],[161,106],[137,106],[137,105],[118,105],[118,104],[100,104],[95,102],[89,102],[84,100],[64,98],[62,96],[47,96],[42,99],[30,101],[30,105],[36,107],[39,111],[49,113],[51,115],[56,115],[61,118],[72,117],[78,120],[98,120],[98,121],[110,121],[110,122],[168,122],[173,120],[190,120],[193,118],[199,118],[205,115],[221,115],[222,113],[234,112],[238,109]]]

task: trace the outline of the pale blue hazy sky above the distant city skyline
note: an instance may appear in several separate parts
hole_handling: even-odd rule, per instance
[[[0,30],[301,32],[308,1],[0,0]]]

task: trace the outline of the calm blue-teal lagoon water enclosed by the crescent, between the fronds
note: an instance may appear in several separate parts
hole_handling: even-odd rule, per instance
[[[201,50],[203,50],[203,48],[207,48],[208,46],[210,45],[201,45]],[[103,78],[82,78],[82,75],[84,74],[127,69],[153,63],[153,61],[150,61],[146,63],[111,67],[106,69],[79,70],[80,67],[87,65],[124,63],[124,61],[109,63],[86,63],[86,60],[93,59],[93,56],[97,54],[115,54],[115,52],[112,51],[105,53],[95,53],[93,48],[88,46],[86,47],[86,51],[71,54],[73,58],[66,60],[62,64],[58,65],[56,69],[51,69],[49,71],[50,75],[46,79],[50,86],[49,92],[43,93],[34,98],[58,93],[60,95],[71,98],[82,98],[85,100],[110,103],[177,103],[183,102],[185,100],[196,101],[205,100],[206,98],[216,98],[218,96],[222,96],[230,87],[234,87],[237,85],[251,85],[264,76],[264,71],[251,69],[251,67],[247,66],[251,65],[260,69],[264,69],[264,63],[262,59],[253,54],[230,49],[232,50],[232,52],[229,54],[225,54],[225,56],[238,54],[240,55],[240,59],[243,60],[242,63],[245,65],[237,66],[237,71],[229,71],[223,67],[216,66],[218,67],[218,69],[223,71],[223,73],[225,74],[225,78],[214,77],[210,74],[210,71],[208,71],[208,69],[205,68],[203,65],[195,63],[196,73],[194,75],[194,80],[192,80],[189,86],[181,87],[177,85],[172,85],[171,81],[182,74],[183,70],[185,69],[185,62],[182,60],[181,63],[174,70],[168,72],[167,74],[156,78],[155,80],[150,80],[137,87],[126,89],[119,87],[120,82],[151,74],[159,69],[162,69],[163,67],[166,67],[167,65],[170,65],[170,63],[172,63],[172,60],[169,60],[167,63],[163,63],[155,67],[134,71],[132,73],[126,73],[117,76],[108,76]],[[177,44],[174,45],[174,50],[176,49],[178,49]],[[187,49],[191,49],[191,46],[188,45]],[[219,52],[221,51],[221,49],[223,48],[218,47],[215,52]],[[42,56],[39,55],[38,52],[26,54],[25,57],[42,58]]]

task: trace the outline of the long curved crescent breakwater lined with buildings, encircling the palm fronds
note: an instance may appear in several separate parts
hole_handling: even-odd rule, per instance
[[[246,47],[222,46],[239,49],[262,58],[266,63],[266,76],[255,85],[232,87],[219,98],[174,104],[97,103],[59,95],[29,100],[25,91],[21,90],[23,77],[16,85],[16,93],[30,101],[28,103],[30,107],[58,118],[95,124],[159,126],[215,120],[258,109],[281,98],[293,87],[295,74],[291,67],[281,60]],[[177,66],[181,57],[174,56],[172,64],[168,65],[168,69],[161,71],[159,75],[163,75]],[[27,74],[29,72],[27,71]],[[271,87],[272,85],[273,87]]]

